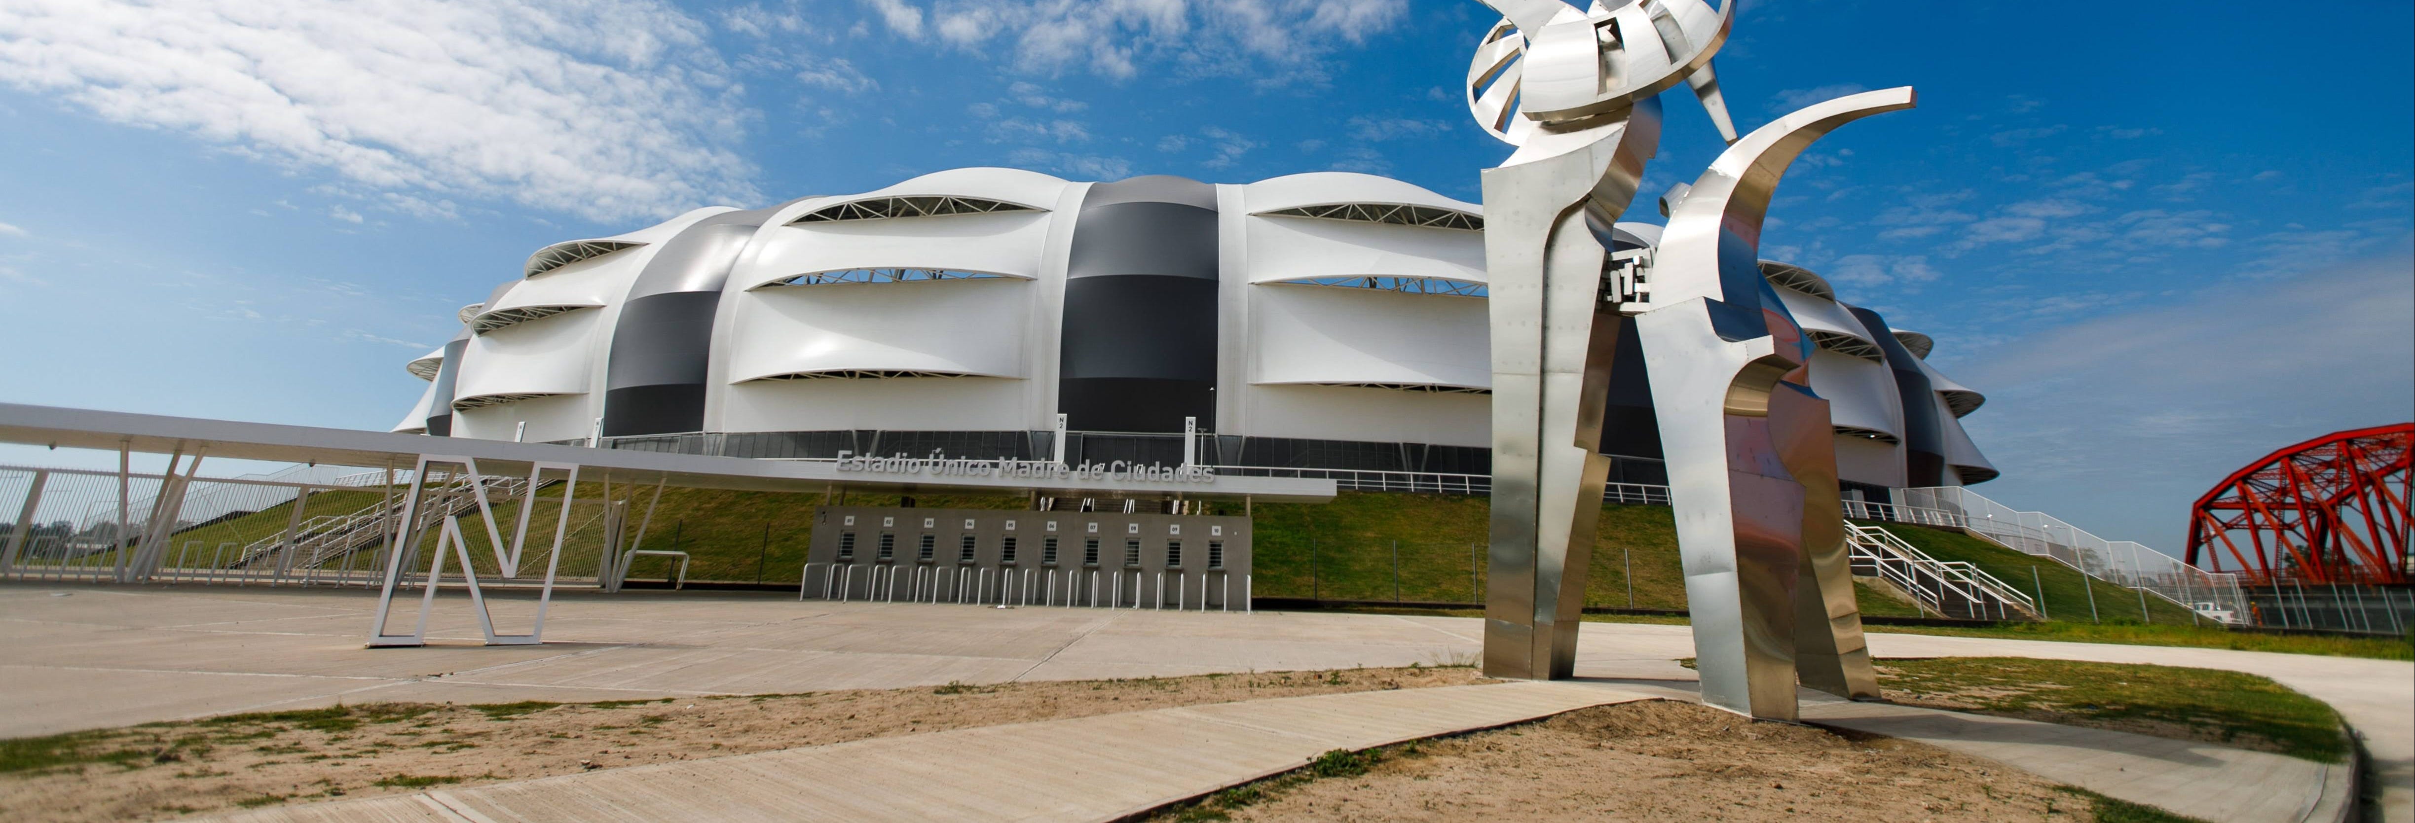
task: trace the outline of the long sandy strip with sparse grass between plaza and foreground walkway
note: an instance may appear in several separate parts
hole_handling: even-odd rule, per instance
[[[365,705],[92,731],[111,763],[0,775],[0,821],[140,821],[664,760],[1179,705],[1488,683],[1473,669],[1350,669],[679,697]]]

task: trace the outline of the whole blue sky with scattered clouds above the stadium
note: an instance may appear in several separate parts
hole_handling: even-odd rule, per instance
[[[2415,19],[2289,14],[1744,2],[1719,58],[1741,128],[1920,89],[1794,167],[1763,253],[1937,335],[1990,396],[1966,425],[2004,478],[1980,492],[2178,550],[2229,468],[2415,418]],[[1490,19],[1471,0],[7,2],[0,398],[384,430],[423,386],[401,364],[543,244],[949,167],[1350,169],[1473,200],[1507,154],[1456,89]],[[1647,193],[1717,147],[1669,99]]]

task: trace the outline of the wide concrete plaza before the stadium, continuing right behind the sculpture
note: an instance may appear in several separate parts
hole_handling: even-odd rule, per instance
[[[543,647],[478,647],[440,599],[435,647],[362,649],[367,591],[0,584],[0,736],[365,700],[512,702],[1080,681],[1473,661],[1473,618],[799,603],[563,591]],[[534,603],[500,601],[502,628]],[[2181,647],[1872,635],[1879,656],[2041,656],[2229,669],[2330,702],[2367,734],[2384,818],[2415,823],[2415,664]],[[1683,625],[1587,623],[1577,673],[1693,681]],[[1690,683],[1671,683],[1690,685]]]

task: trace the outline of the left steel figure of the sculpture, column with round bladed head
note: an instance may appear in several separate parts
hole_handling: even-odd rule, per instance
[[[1608,459],[1618,314],[1601,297],[1608,229],[1659,150],[1654,94],[1695,92],[1727,123],[1710,58],[1734,0],[1649,0],[1589,12],[1560,0],[1485,0],[1502,19],[1468,68],[1476,121],[1517,145],[1485,169],[1492,314],[1492,558],[1485,673],[1565,678]]]

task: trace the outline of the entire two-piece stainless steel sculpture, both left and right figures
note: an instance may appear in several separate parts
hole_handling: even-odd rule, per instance
[[[1828,405],[1809,343],[1756,268],[1787,164],[1910,89],[1809,106],[1736,140],[1710,68],[1734,0],[1502,12],[1468,70],[1476,121],[1517,145],[1485,169],[1492,316],[1492,553],[1485,673],[1567,678],[1608,459],[1599,451],[1620,323],[1635,321],[1671,468],[1703,700],[1794,717],[1802,681],[1874,695],[1843,560]],[[1671,208],[1657,261],[1599,237],[1659,150],[1664,89],[1688,82],[1732,147]],[[1633,319],[1630,319],[1633,316]],[[1809,550],[1806,550],[1809,548]],[[1799,613],[1799,615],[1797,615]],[[1814,630],[1797,640],[1797,625]]]

